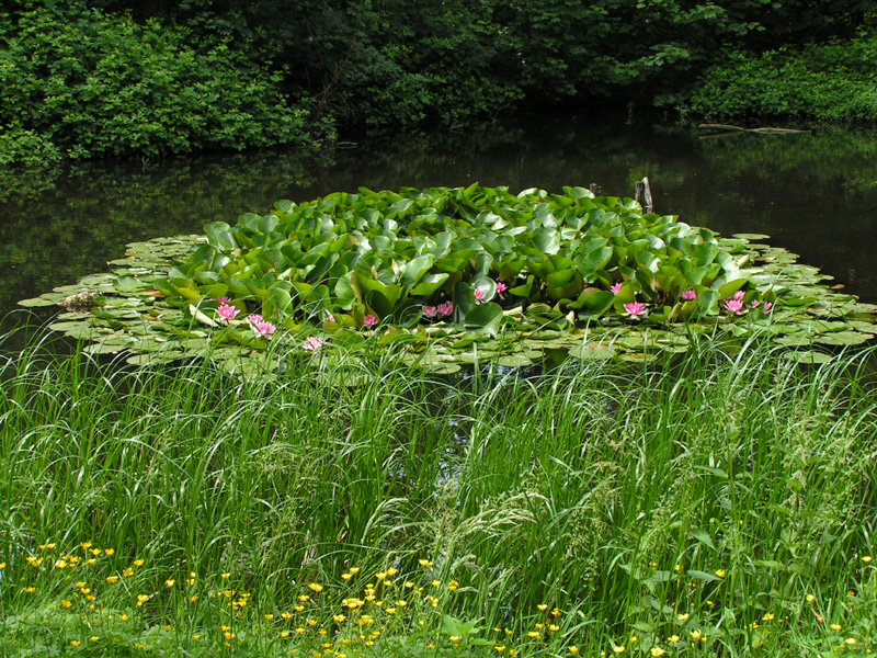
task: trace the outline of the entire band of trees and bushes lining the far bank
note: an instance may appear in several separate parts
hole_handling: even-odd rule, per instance
[[[765,50],[824,46],[867,70],[873,47],[847,45],[873,20],[862,0],[16,0],[8,11],[0,164],[317,146],[335,123],[460,129],[524,106],[680,106],[692,80],[728,80],[728,67],[745,73],[731,87],[752,107],[804,115],[816,100],[817,116],[856,120],[875,105],[867,90],[844,98],[869,78],[847,78],[842,63],[789,64],[790,83],[775,81],[777,63],[758,64]],[[789,102],[750,81],[817,90]]]

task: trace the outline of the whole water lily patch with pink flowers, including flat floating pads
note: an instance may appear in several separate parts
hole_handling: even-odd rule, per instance
[[[361,189],[205,234],[133,245],[112,273],[22,304],[64,305],[96,285],[53,328],[138,365],[209,354],[252,371],[264,368],[242,359],[278,343],[322,354],[369,337],[441,371],[526,365],[546,349],[641,362],[717,331],[767,336],[812,362],[827,358],[813,343],[877,334],[877,306],[754,243],[766,236],[724,238],[582,188]]]

